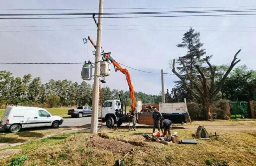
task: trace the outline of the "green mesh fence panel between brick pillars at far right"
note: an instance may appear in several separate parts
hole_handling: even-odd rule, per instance
[[[250,118],[248,102],[229,102],[229,106],[233,117]]]

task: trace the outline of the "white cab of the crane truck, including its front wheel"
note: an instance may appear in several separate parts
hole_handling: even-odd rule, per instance
[[[120,100],[106,100],[102,106],[102,121],[106,122],[108,127],[114,124],[122,124],[122,110]],[[100,120],[101,118],[99,118]]]

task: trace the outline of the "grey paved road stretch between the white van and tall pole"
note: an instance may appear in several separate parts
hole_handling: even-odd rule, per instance
[[[66,126],[81,126],[85,124],[91,123],[91,117],[82,117],[82,118],[64,118],[63,124],[60,125],[61,127]]]

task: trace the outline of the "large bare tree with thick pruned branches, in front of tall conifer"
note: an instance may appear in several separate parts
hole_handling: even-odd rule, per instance
[[[198,63],[193,64],[198,72],[198,74],[193,75],[189,72],[187,65],[184,63],[184,59],[181,57],[179,58],[179,61],[181,62],[186,72],[183,75],[176,71],[175,59],[173,60],[172,72],[180,78],[181,83],[192,95],[192,97],[194,97],[197,101],[200,101],[202,104],[202,111],[204,114],[203,117],[205,120],[212,119],[213,98],[221,90],[232,68],[240,61],[240,59],[238,60],[236,57],[240,51],[241,49],[236,52],[228,70],[217,84],[215,81],[216,67],[209,62],[211,56],[206,56],[206,58],[203,58],[204,62],[207,64],[207,67]]]

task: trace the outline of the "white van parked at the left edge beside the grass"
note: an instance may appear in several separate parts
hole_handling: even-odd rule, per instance
[[[46,109],[38,107],[8,107],[0,122],[0,127],[11,132],[21,128],[52,126],[59,127],[63,118],[51,115]]]

